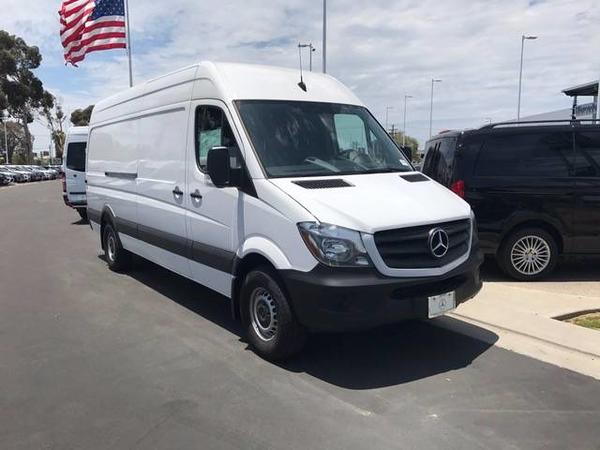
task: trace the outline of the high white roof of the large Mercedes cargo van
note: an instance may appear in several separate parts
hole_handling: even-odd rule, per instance
[[[335,78],[300,70],[256,64],[204,61],[154,78],[96,104],[91,123],[193,99],[295,100],[360,105],[354,93]],[[152,95],[158,94],[161,95]]]

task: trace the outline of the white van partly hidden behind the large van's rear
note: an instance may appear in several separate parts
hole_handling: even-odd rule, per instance
[[[88,127],[71,127],[65,141],[63,155],[63,200],[75,208],[82,219],[87,219],[85,193],[85,159]]]

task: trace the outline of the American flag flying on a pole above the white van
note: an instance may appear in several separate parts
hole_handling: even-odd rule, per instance
[[[124,0],[63,0],[58,13],[67,64],[77,66],[91,52],[127,48]]]

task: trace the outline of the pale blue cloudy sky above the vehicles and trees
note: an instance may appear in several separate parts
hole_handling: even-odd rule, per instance
[[[2,0],[0,28],[38,45],[37,71],[66,110],[127,87],[124,51],[95,53],[65,67],[58,37],[59,1]],[[135,79],[212,59],[296,67],[298,41],[321,58],[321,0],[129,0]],[[383,122],[421,143],[428,136],[431,78],[434,131],[479,126],[516,115],[519,52],[527,42],[523,115],[567,108],[561,90],[600,77],[597,0],[329,0],[328,69]],[[47,146],[36,125],[35,148]]]

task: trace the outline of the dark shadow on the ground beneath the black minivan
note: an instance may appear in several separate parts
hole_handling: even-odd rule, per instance
[[[490,256],[485,258],[481,266],[481,279],[517,282],[505,275],[496,260]],[[544,281],[600,281],[600,258],[597,256],[562,258],[555,271],[540,282]]]

